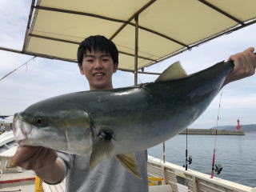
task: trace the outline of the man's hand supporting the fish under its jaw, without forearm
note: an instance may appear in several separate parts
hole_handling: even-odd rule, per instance
[[[38,170],[54,164],[57,157],[54,150],[42,146],[19,146],[13,161],[26,170]]]

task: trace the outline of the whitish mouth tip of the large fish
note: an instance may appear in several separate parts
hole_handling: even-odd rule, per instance
[[[13,131],[14,138],[18,144],[28,140],[30,138],[33,126],[23,121],[20,113],[14,114]]]

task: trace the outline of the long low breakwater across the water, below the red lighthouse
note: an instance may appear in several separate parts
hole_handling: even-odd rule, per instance
[[[186,130],[182,130],[180,134],[186,134]],[[216,134],[216,130],[210,129],[188,129],[187,134]],[[243,130],[217,130],[218,135],[245,135]]]

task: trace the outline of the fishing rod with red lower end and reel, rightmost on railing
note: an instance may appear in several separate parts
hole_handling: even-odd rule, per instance
[[[223,92],[223,90],[222,90],[222,92]],[[215,139],[214,139],[214,154],[213,154],[213,160],[212,160],[212,165],[211,165],[210,178],[214,178],[214,171],[217,174],[220,174],[221,171],[222,171],[222,165],[221,164],[215,165],[215,151],[216,151],[216,143],[217,143],[218,119],[219,119],[219,110],[221,108],[221,102],[222,102],[222,93],[221,93],[221,97],[219,98],[219,103],[218,103],[218,116],[217,116],[216,132],[215,132]]]

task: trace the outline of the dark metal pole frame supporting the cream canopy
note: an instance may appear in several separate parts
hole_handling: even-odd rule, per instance
[[[118,70],[133,72],[134,73],[134,84],[137,84],[138,73],[159,74],[159,73],[144,71],[144,66],[138,67],[138,58],[143,58],[143,59],[146,59],[146,60],[150,61],[150,64],[147,65],[147,66],[152,66],[152,65],[154,65],[158,62],[162,62],[162,61],[166,60],[167,58],[171,58],[174,55],[181,54],[182,52],[184,52],[186,50],[191,50],[195,46],[199,46],[199,45],[201,45],[205,42],[208,42],[208,41],[210,41],[214,38],[218,38],[218,37],[220,37],[224,34],[229,34],[231,32],[234,32],[235,30],[239,30],[239,29],[242,29],[243,27],[250,26],[250,25],[256,23],[256,18],[250,20],[249,22],[242,22],[238,18],[235,18],[233,15],[227,14],[224,10],[221,10],[218,7],[210,4],[210,2],[206,2],[206,0],[198,0],[198,2],[202,2],[203,5],[209,6],[212,10],[218,11],[218,13],[223,14],[226,18],[230,18],[230,19],[234,20],[234,22],[237,22],[238,25],[231,28],[231,29],[222,31],[221,33],[214,34],[210,38],[205,38],[205,39],[202,39],[201,41],[196,42],[194,44],[186,45],[185,43],[180,42],[177,39],[168,37],[165,34],[161,34],[158,31],[150,30],[150,29],[148,29],[144,26],[139,26],[139,24],[138,24],[138,15],[141,14],[148,7],[152,6],[154,4],[154,2],[157,2],[157,0],[151,0],[150,2],[147,2],[146,5],[142,6],[138,11],[135,12],[135,14],[131,15],[128,20],[124,21],[124,20],[120,20],[120,19],[117,19],[117,18],[107,18],[105,16],[98,15],[98,14],[90,14],[90,13],[83,13],[83,12],[74,11],[74,10],[62,10],[62,9],[58,9],[58,8],[54,8],[54,7],[40,6],[40,0],[37,0],[37,1],[32,0],[31,1],[31,6],[30,6],[30,14],[29,14],[29,18],[28,18],[28,22],[27,22],[27,26],[26,26],[26,35],[25,35],[25,40],[24,40],[24,43],[23,43],[22,50],[13,50],[13,49],[9,49],[9,48],[6,48],[6,47],[0,47],[0,50],[11,51],[11,52],[14,52],[14,53],[19,53],[19,54],[28,54],[28,55],[31,55],[31,56],[36,56],[36,57],[41,57],[41,58],[51,58],[51,59],[58,59],[58,60],[67,61],[67,62],[76,62],[76,60],[74,60],[74,59],[59,58],[59,57],[54,57],[54,56],[50,56],[50,55],[46,55],[46,54],[38,54],[38,53],[26,51],[26,46],[28,44],[28,41],[29,41],[30,37],[45,38],[45,39],[50,39],[52,41],[67,42],[67,43],[72,43],[72,44],[79,44],[80,43],[80,42],[73,42],[73,41],[68,41],[68,40],[60,39],[60,38],[51,38],[51,37],[42,36],[42,35],[38,35],[38,34],[32,34],[31,29],[33,29],[33,26],[34,26],[34,19],[32,19],[32,18],[33,18],[33,14],[34,14],[34,18],[36,17],[36,15],[38,13],[38,10],[50,10],[50,11],[54,11],[54,12],[62,12],[62,13],[67,13],[67,14],[79,14],[79,15],[83,15],[85,17],[106,19],[106,20],[109,20],[111,22],[121,22],[121,23],[123,23],[122,26],[118,30],[116,30],[113,35],[111,35],[110,39],[113,40],[127,25],[134,26],[134,29],[135,29],[135,33],[134,33],[134,37],[135,37],[134,50],[135,51],[134,51],[134,54],[126,53],[124,51],[119,51],[120,54],[126,54],[126,55],[130,55],[130,56],[134,57],[134,70],[126,70],[126,69],[122,69],[122,68],[119,68]],[[135,23],[132,22],[133,20],[135,21]],[[161,36],[162,38],[166,38],[167,40],[169,40],[171,42],[178,43],[179,45],[181,45],[183,47],[180,50],[177,50],[176,52],[174,52],[172,54],[167,54],[165,57],[159,58],[157,60],[154,60],[152,58],[142,57],[141,55],[138,55],[138,40],[139,40],[138,39],[138,29],[146,30],[147,32],[150,32],[152,34],[157,34],[157,35]],[[142,71],[138,71],[138,70],[142,70]]]

